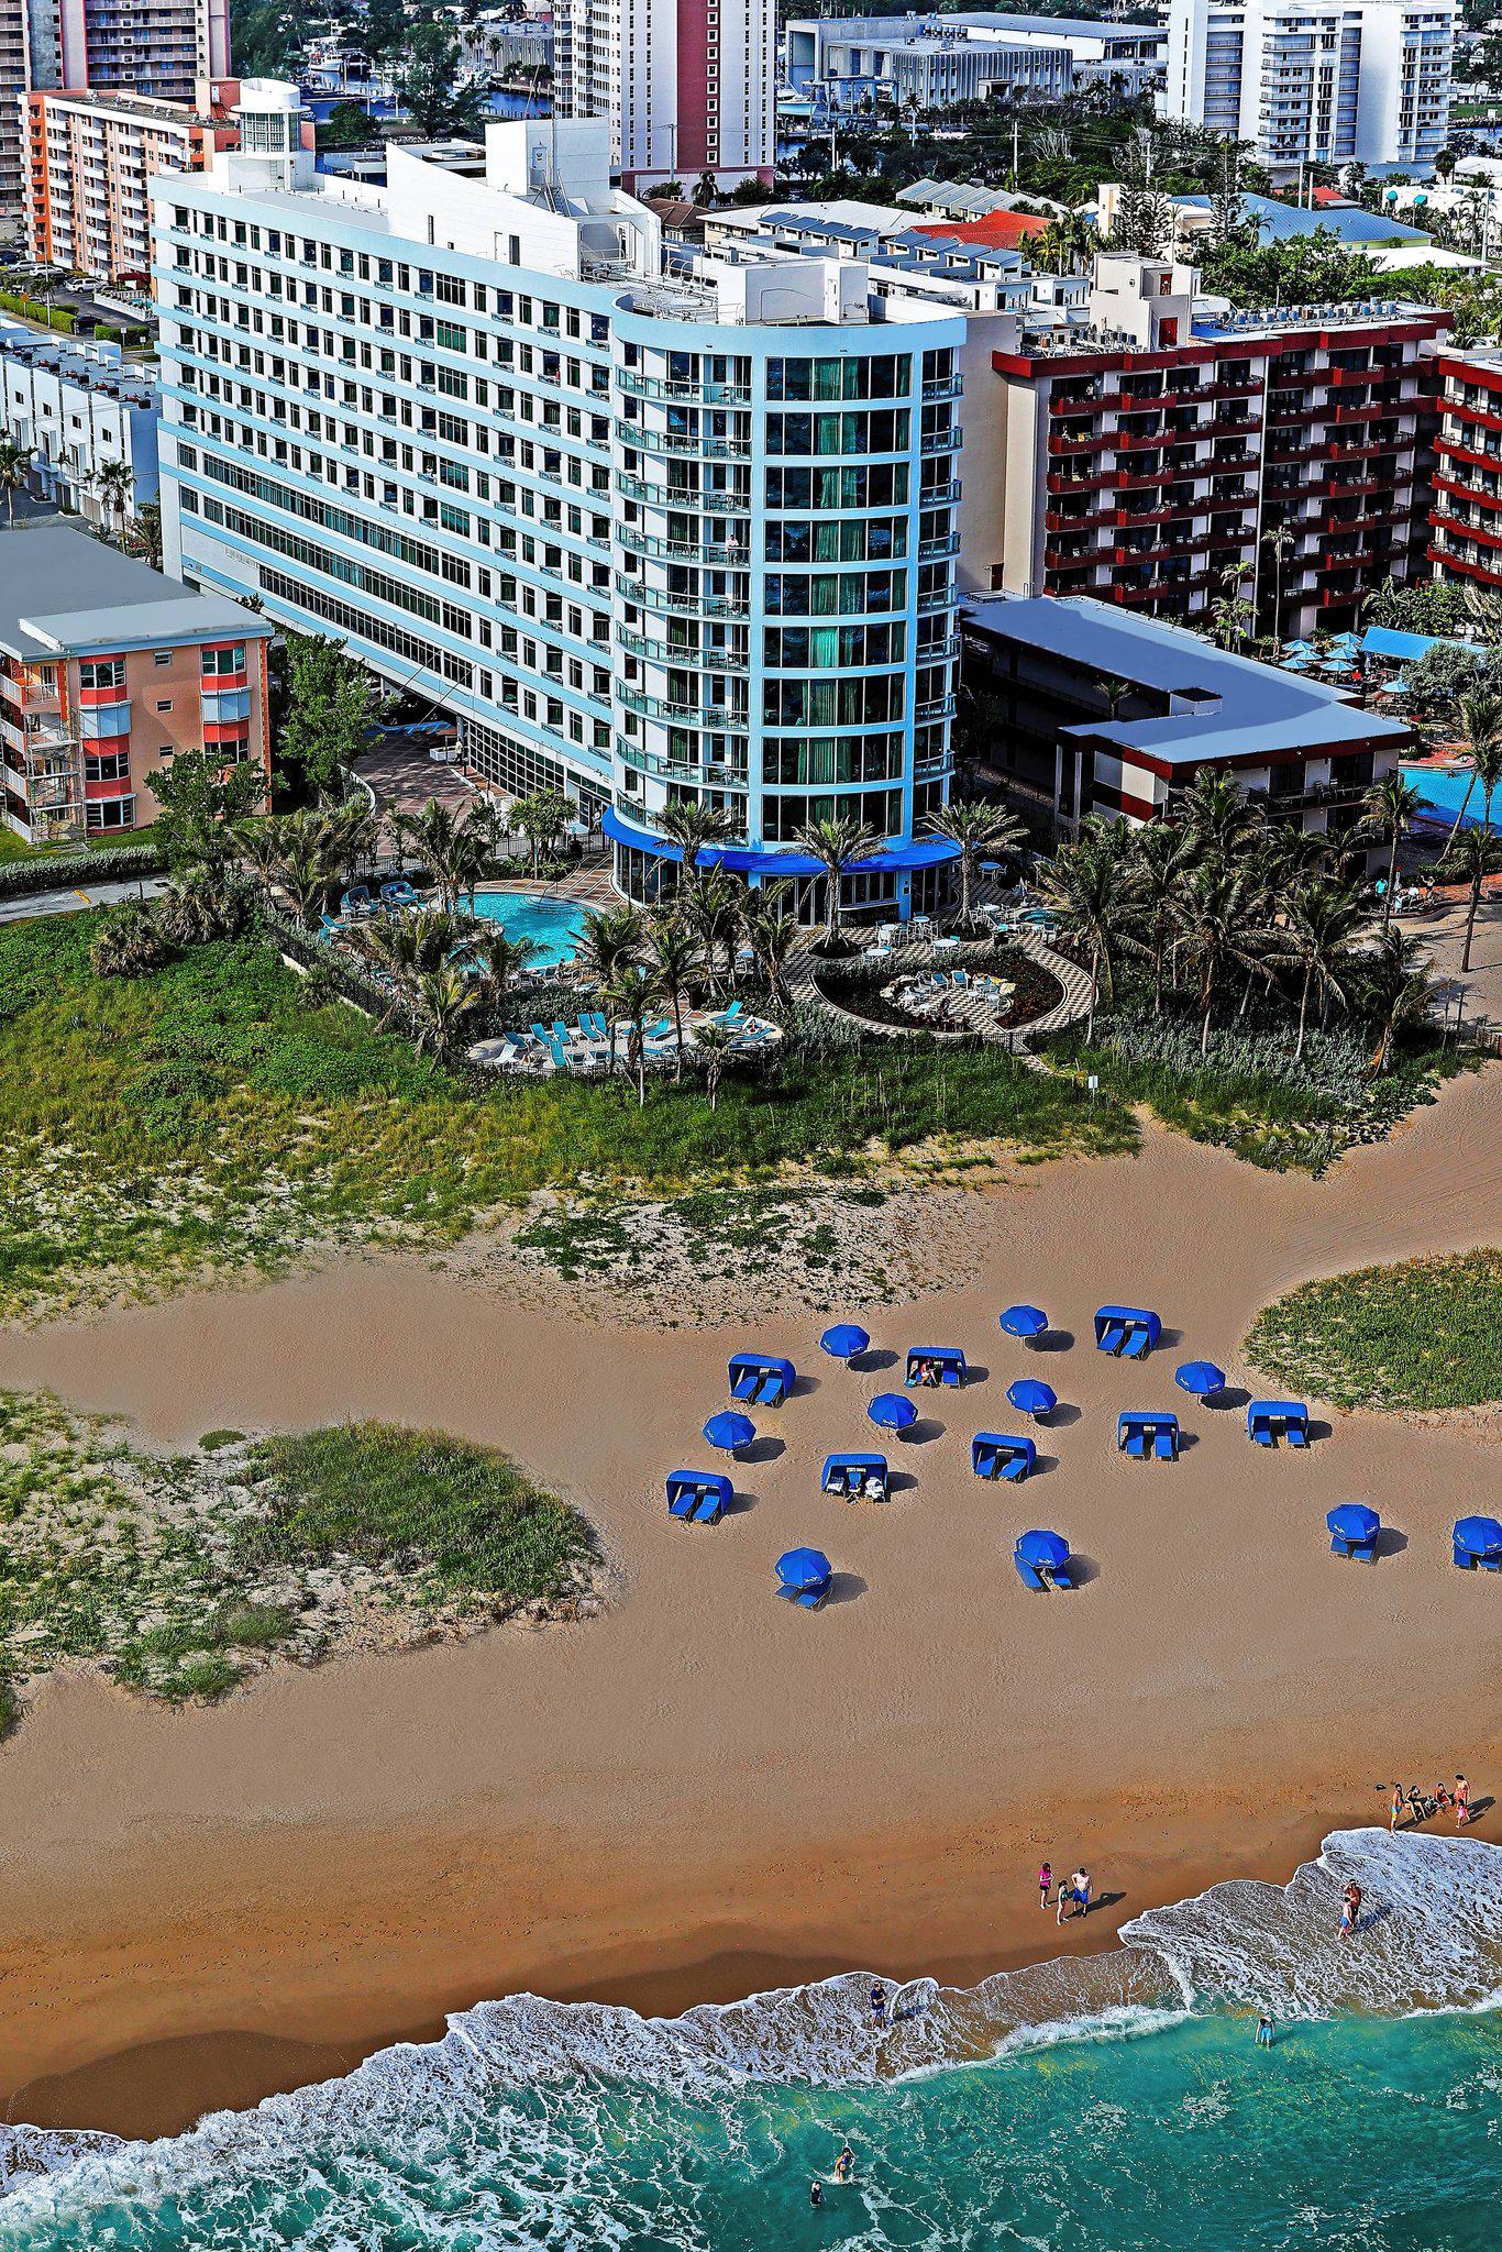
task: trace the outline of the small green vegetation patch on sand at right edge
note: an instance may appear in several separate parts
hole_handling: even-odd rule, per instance
[[[1248,1353],[1342,1407],[1502,1401],[1502,1250],[1306,1281],[1257,1315]]]

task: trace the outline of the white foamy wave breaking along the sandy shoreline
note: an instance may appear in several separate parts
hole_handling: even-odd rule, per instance
[[[1365,1894],[1356,1941],[1335,1937],[1340,1892]],[[507,2097],[507,2166],[549,2180],[554,2103],[606,2119],[610,2092],[730,2112],[748,2088],[860,2090],[1004,2061],[1043,2047],[1146,2036],[1214,2007],[1279,2018],[1502,2002],[1502,1849],[1470,1838],[1338,1831],[1288,1885],[1236,1878],[1121,1925],[1121,1946],[995,1973],[971,1989],[871,1973],[642,2018],[604,2002],[509,1995],[455,2013],[441,2040],[381,2049],[345,2079],[216,2112],[191,2133],[128,2144],[0,2130],[7,2223],[59,2209],[173,2198],[185,2184],[290,2178],[309,2153],[401,2151],[423,2164],[491,2133]],[[552,2155],[549,2155],[552,2153]],[[556,2187],[556,2184],[554,2184]],[[610,2243],[604,2218],[594,2243]],[[0,2225],[0,2245],[9,2229]],[[34,2241],[34,2238],[16,2238]],[[133,2238],[122,2236],[122,2243]],[[257,2238],[259,2241],[259,2238]],[[333,2238],[331,2238],[333,2241]],[[543,2241],[543,2238],[540,2238]]]

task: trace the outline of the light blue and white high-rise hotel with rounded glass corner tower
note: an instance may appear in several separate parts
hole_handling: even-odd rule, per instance
[[[259,99],[153,191],[167,570],[446,705],[482,781],[604,813],[635,899],[685,799],[752,881],[851,813],[887,849],[849,903],[932,896],[964,315],[835,259],[664,275],[606,122],[491,126],[484,180],[392,149],[354,189]]]

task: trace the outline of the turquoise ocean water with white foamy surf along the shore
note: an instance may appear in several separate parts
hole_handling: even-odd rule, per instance
[[[676,2020],[520,1995],[173,2142],[14,2133],[0,2252],[1502,2245],[1502,1849],[1340,1831],[1121,1939],[912,1982],[885,2034],[867,1975]]]

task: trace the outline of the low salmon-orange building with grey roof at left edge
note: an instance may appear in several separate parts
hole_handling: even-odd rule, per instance
[[[0,534],[2,813],[29,844],[146,829],[173,752],[270,786],[272,628],[65,525]]]

